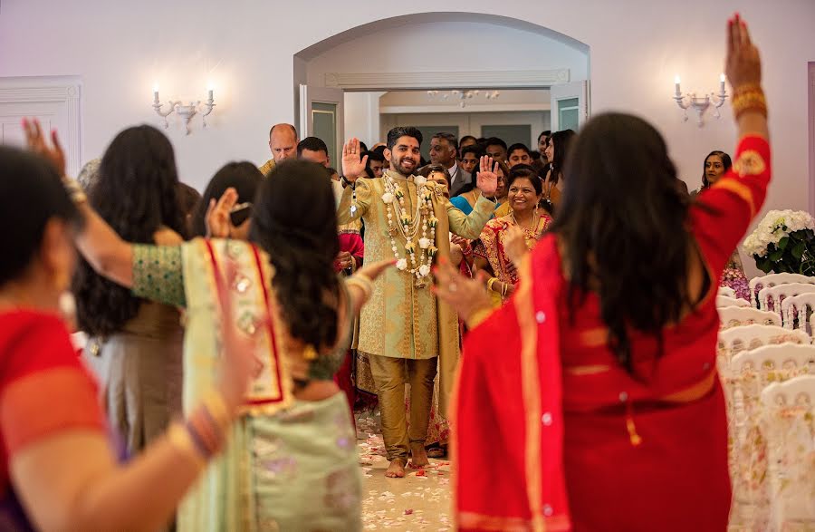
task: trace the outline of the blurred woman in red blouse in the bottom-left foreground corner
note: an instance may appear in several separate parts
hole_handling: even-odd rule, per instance
[[[62,151],[24,125],[34,149],[62,167]],[[251,345],[225,327],[228,371],[212,400],[118,465],[98,386],[59,315],[82,219],[72,199],[85,201],[74,185],[69,197],[49,162],[0,147],[0,530],[156,530],[223,445]]]

